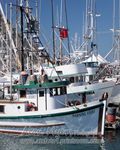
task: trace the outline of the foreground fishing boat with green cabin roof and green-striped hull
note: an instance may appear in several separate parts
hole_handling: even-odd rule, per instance
[[[18,99],[0,101],[0,132],[104,135],[106,99],[70,105],[67,85],[67,81],[13,85]]]

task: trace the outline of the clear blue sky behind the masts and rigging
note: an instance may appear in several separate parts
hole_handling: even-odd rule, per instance
[[[35,6],[36,0],[29,0],[30,7]],[[96,41],[98,45],[98,52],[105,56],[112,48],[112,31],[113,28],[113,1],[114,0],[96,0],[96,12],[101,16],[97,18],[97,32],[96,32]],[[16,0],[0,0],[2,6],[5,10],[5,4],[12,2],[16,4]],[[58,16],[60,16],[60,0],[53,0],[54,2],[54,22],[58,24]],[[66,0],[67,7],[67,18],[68,18],[68,28],[69,28],[69,39],[72,39],[77,33],[80,43],[82,42],[83,36],[83,16],[85,14],[85,4],[86,0]],[[119,0],[115,0],[116,9],[115,9],[115,28],[118,28],[119,23]],[[52,43],[52,15],[51,15],[51,0],[38,0],[39,5],[39,20],[40,20],[40,29],[42,36],[44,35],[46,43],[48,45]],[[14,11],[15,12],[15,11]],[[35,15],[35,8],[33,9]],[[9,12],[8,12],[9,16]],[[14,19],[14,16],[13,16]],[[63,24],[65,20],[65,15],[63,13]]]

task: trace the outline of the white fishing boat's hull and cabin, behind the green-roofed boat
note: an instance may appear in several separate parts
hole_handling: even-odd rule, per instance
[[[90,63],[94,64],[92,61]],[[87,69],[89,69],[89,72]],[[85,93],[86,99],[93,101],[93,99],[100,99],[101,95],[106,93],[109,101],[115,82],[112,79],[109,81],[104,79],[94,80],[97,69],[94,65],[86,68],[82,63],[44,67],[48,78],[52,81],[66,80],[70,82],[67,86],[67,93],[74,93],[73,99],[82,98],[81,95]],[[88,78],[92,78],[93,80],[89,80],[88,82]]]

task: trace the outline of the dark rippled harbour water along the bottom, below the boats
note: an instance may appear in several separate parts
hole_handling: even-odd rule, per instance
[[[96,137],[28,136],[0,134],[0,150],[119,150],[120,131]]]

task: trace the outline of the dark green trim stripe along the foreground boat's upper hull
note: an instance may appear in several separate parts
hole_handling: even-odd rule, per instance
[[[66,116],[66,115],[71,115],[71,114],[76,114],[84,111],[88,111],[91,109],[95,109],[98,107],[103,107],[104,104],[98,104],[96,106],[91,106],[91,107],[86,107],[84,109],[79,109],[74,106],[74,110],[69,111],[69,112],[62,112],[62,113],[56,113],[56,114],[46,114],[46,115],[31,115],[31,116],[0,116],[0,119],[34,119],[34,118],[47,118],[47,117],[58,117],[58,116]]]

